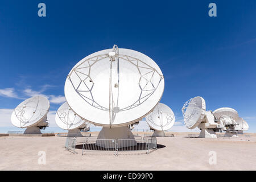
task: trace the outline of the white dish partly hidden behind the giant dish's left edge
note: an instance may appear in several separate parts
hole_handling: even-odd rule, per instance
[[[55,115],[57,125],[64,130],[73,130],[79,128],[85,123],[65,102],[59,107]]]

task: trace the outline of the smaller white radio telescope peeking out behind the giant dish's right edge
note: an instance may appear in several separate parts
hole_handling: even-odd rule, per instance
[[[158,103],[154,110],[146,116],[146,122],[155,130],[152,137],[166,137],[164,131],[171,129],[175,122],[174,112],[165,104]]]

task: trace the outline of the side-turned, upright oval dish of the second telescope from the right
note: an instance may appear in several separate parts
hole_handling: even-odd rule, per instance
[[[205,100],[203,97],[194,97],[185,102],[182,112],[185,126],[188,129],[197,127],[205,117]]]

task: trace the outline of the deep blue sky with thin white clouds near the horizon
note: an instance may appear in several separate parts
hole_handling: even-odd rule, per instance
[[[40,2],[46,4],[43,18]],[[211,2],[217,17],[208,16]],[[117,44],[159,65],[161,102],[177,121],[184,102],[202,96],[207,110],[233,107],[256,132],[255,18],[254,0],[1,1],[0,127],[11,127],[10,111],[35,94],[49,98],[54,115],[72,67]]]

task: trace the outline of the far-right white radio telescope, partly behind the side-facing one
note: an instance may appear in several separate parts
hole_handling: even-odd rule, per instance
[[[222,123],[225,137],[238,137],[243,131],[249,129],[245,120],[238,116],[236,110],[230,107],[221,107],[213,111],[214,116]]]

